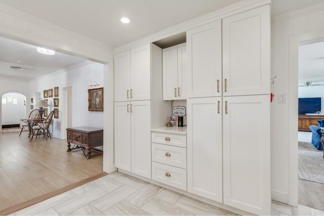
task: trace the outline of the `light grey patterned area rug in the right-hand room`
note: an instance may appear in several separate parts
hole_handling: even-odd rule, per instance
[[[322,151],[298,150],[298,178],[324,184]]]

